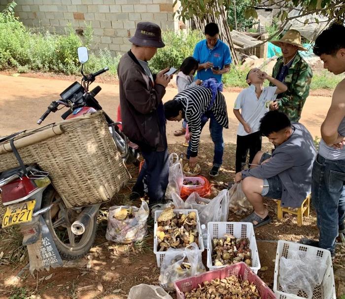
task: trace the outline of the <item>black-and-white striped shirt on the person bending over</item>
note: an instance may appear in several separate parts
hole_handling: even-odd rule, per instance
[[[211,90],[203,86],[191,87],[179,92],[174,100],[181,101],[185,120],[188,123],[188,129],[192,133],[190,144],[192,157],[198,155],[199,140],[201,134],[201,117],[207,112],[211,102]],[[218,91],[213,106],[210,108],[217,122],[224,128],[228,128],[228,112],[224,95]]]

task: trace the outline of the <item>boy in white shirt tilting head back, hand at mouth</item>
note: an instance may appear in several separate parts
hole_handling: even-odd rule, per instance
[[[275,86],[263,87],[265,79]],[[249,163],[252,163],[255,154],[261,150],[260,120],[270,108],[274,110],[276,95],[287,90],[284,83],[258,68],[248,72],[246,82],[249,87],[241,91],[234,106],[234,114],[240,121],[237,130],[236,173],[245,165],[248,151]]]

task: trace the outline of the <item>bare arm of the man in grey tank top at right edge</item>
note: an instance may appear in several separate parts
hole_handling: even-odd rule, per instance
[[[345,117],[345,80],[340,82],[334,90],[331,107],[328,110],[326,119],[321,125],[321,136],[328,145],[344,141],[344,136],[340,136],[338,128]]]

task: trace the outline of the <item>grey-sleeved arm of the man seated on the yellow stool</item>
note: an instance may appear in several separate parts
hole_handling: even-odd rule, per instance
[[[258,167],[242,170],[242,178],[255,177],[269,179],[294,166],[294,159],[286,152],[276,153],[266,163]]]

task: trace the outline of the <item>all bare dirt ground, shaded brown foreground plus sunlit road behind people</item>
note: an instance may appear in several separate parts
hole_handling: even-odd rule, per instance
[[[0,75],[2,97],[0,99],[0,136],[25,128],[35,127],[36,120],[46,110],[50,101],[57,99],[59,92],[64,90],[69,82],[45,78],[13,77]],[[118,105],[118,86],[100,84],[103,88],[98,100],[104,110],[115,119]],[[176,93],[173,87],[169,87],[165,100]],[[322,93],[322,92],[321,92]],[[238,92],[226,91],[225,96],[228,107],[232,107]],[[329,96],[312,95],[307,100],[302,122],[310,129],[313,135],[319,135],[319,127],[330,104]],[[46,123],[60,120],[60,114],[52,114]],[[227,182],[235,176],[235,149],[237,121],[229,109],[230,128],[225,130],[224,164],[221,175],[217,179],[208,176],[208,170],[212,165],[212,145],[207,130],[202,135],[200,145],[201,175],[209,179],[214,196],[223,188],[223,182]],[[184,152],[181,146],[182,137],[174,137],[173,130],[179,128],[178,123],[168,123],[169,151]],[[264,149],[270,150],[266,144]],[[125,204],[131,186],[138,175],[138,168],[129,166],[133,179],[127,187],[107,203],[101,210],[99,228],[94,247],[83,259],[66,263],[64,268],[41,271],[35,276],[27,270],[22,271],[21,278],[16,275],[28,263],[25,248],[20,246],[20,236],[12,231],[0,230],[0,299],[125,299],[132,286],[140,283],[158,284],[160,270],[157,268],[156,257],[153,254],[153,221],[148,222],[149,236],[143,242],[131,245],[119,245],[105,239],[106,210],[113,205]],[[213,197],[211,196],[211,198]],[[266,200],[265,205],[269,210],[273,222],[255,229],[260,263],[263,270],[258,275],[264,282],[273,288],[274,267],[276,259],[276,241],[278,239],[297,241],[302,236],[317,238],[315,212],[311,209],[311,215],[304,218],[304,225],[297,226],[295,216],[285,214],[281,221],[276,219],[276,203]],[[232,211],[229,213],[229,221],[238,221],[241,216]],[[14,242],[14,238],[17,238]],[[15,246],[14,244],[18,244]],[[3,252],[3,253],[2,253]],[[206,251],[203,253],[203,261],[206,265]],[[91,265],[88,269],[86,265]],[[339,250],[334,262],[335,270],[344,269],[345,252]],[[266,269],[267,267],[267,269]],[[52,274],[52,275],[51,275]],[[338,293],[338,296],[341,294]],[[171,296],[175,299],[175,294]]]

